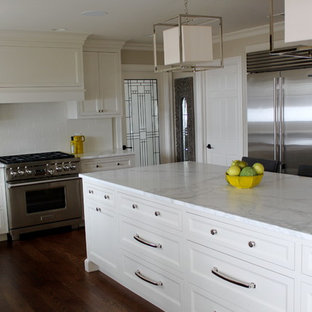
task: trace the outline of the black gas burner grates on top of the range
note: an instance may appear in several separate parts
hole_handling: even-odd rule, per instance
[[[21,154],[11,156],[0,156],[0,162],[4,164],[17,164],[24,162],[44,161],[63,158],[74,158],[72,154],[63,152],[46,152],[46,153],[34,153],[34,154]]]

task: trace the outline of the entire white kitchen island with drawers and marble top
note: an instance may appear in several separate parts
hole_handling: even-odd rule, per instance
[[[312,179],[265,172],[236,189],[225,170],[185,162],[82,174],[86,270],[164,311],[311,312]]]

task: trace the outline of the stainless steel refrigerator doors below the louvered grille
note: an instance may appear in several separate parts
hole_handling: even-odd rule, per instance
[[[248,74],[248,156],[312,165],[312,68]]]

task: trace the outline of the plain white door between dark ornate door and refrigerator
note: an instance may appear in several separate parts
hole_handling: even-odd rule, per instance
[[[243,154],[241,58],[224,60],[224,68],[200,75],[203,162],[229,165]]]

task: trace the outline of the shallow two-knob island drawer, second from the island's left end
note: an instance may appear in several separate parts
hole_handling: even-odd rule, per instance
[[[122,214],[165,229],[182,229],[182,212],[160,203],[147,201],[133,195],[119,193]]]

